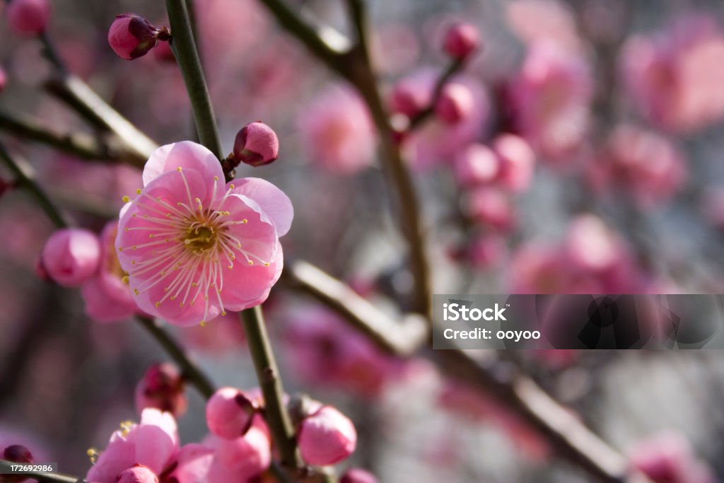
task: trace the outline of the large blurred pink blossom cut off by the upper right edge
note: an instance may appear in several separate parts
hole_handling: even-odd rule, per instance
[[[655,35],[633,35],[620,69],[639,111],[660,127],[688,133],[724,117],[724,33],[689,14]]]

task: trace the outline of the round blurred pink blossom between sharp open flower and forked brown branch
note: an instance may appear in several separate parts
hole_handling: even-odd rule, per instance
[[[374,125],[366,105],[350,88],[334,86],[303,109],[298,119],[308,158],[340,175],[353,175],[374,161]]]

